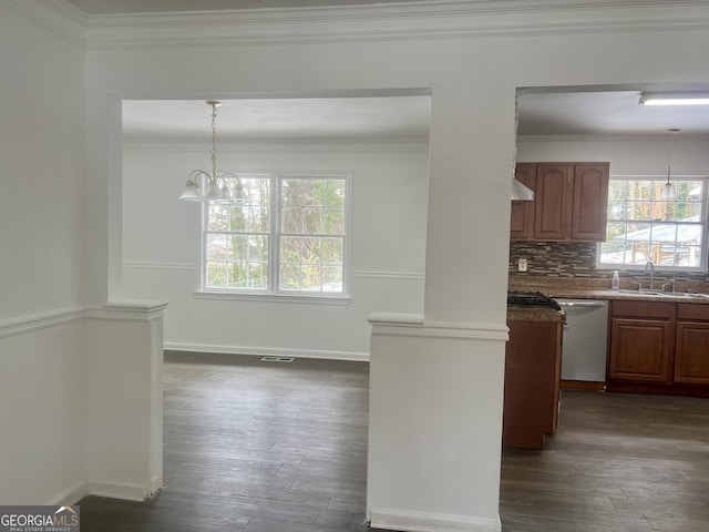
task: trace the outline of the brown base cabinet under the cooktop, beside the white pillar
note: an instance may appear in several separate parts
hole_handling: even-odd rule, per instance
[[[502,444],[544,449],[546,434],[558,426],[563,316],[512,319],[507,327]]]

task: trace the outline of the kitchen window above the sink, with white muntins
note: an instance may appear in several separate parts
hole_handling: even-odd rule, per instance
[[[599,266],[700,269],[706,264],[707,178],[672,180],[675,200],[660,196],[666,180],[612,177],[606,242]]]

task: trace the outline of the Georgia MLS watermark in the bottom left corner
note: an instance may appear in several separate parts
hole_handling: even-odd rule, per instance
[[[79,532],[79,507],[0,507],[0,532]]]

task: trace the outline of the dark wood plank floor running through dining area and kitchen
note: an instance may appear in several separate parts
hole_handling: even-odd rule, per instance
[[[83,532],[352,532],[364,524],[367,364],[165,365],[165,487],[90,497]],[[565,391],[547,450],[505,449],[504,532],[709,531],[709,399]]]

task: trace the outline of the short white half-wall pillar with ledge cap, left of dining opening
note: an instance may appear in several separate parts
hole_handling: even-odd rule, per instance
[[[88,491],[143,501],[163,485],[165,304],[88,310]]]

